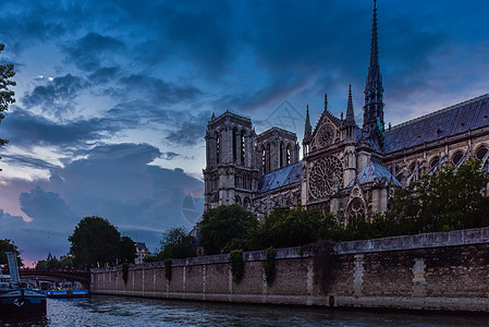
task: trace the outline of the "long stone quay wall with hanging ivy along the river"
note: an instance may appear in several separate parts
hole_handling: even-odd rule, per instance
[[[232,279],[228,255],[91,270],[90,291],[236,303],[489,312],[489,228],[277,250],[268,284],[266,251],[244,253]],[[328,250],[330,249],[330,250]]]

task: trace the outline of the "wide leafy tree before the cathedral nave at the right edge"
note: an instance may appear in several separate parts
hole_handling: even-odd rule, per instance
[[[424,175],[394,194],[390,216],[400,233],[432,232],[489,225],[489,198],[481,190],[489,182],[481,162],[469,159],[457,169],[444,167]]]

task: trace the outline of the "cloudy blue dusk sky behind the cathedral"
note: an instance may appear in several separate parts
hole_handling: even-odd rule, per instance
[[[256,132],[304,132],[323,110],[356,122],[369,62],[369,0],[0,2],[0,63],[16,102],[0,124],[0,239],[28,265],[69,252],[99,216],[151,251],[203,210],[212,112]],[[379,0],[384,120],[489,90],[489,2]]]

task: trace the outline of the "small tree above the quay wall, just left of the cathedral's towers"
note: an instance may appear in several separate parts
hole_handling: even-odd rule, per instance
[[[183,258],[195,256],[193,238],[184,227],[173,227],[163,233],[160,251],[148,257],[146,262],[161,262],[167,258]]]

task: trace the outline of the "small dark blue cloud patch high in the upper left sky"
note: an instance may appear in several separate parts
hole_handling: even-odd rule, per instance
[[[124,49],[125,45],[119,39],[91,32],[65,50],[70,61],[80,69],[91,72],[99,69],[105,61],[112,62],[112,56]]]

